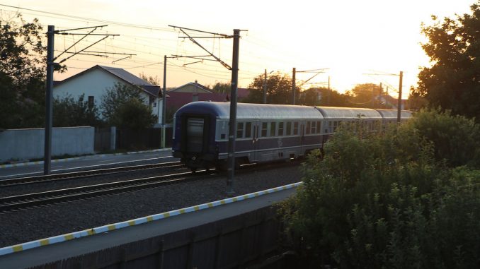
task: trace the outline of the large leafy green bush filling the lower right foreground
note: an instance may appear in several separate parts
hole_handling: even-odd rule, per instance
[[[309,155],[303,186],[280,210],[304,258],[339,268],[478,268],[480,171],[445,166],[457,164],[437,143],[469,139],[472,121],[435,113],[377,133],[359,120],[331,137],[323,160]],[[442,126],[461,131],[447,139]]]

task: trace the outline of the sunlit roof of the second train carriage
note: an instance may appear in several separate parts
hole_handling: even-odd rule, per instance
[[[324,119],[383,119],[375,109],[353,107],[316,107]]]

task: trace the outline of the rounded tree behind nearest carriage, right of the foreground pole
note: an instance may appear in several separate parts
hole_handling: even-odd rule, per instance
[[[263,74],[248,85],[250,93],[244,102],[263,102]],[[269,104],[292,104],[292,78],[280,72],[267,77],[267,102]]]

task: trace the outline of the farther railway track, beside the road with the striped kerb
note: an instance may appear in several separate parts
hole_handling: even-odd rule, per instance
[[[180,162],[162,162],[162,163],[153,164],[153,165],[132,165],[127,167],[94,169],[94,170],[69,172],[69,173],[61,173],[61,174],[49,174],[49,175],[34,176],[34,177],[18,177],[13,179],[0,180],[0,187],[35,184],[35,183],[50,182],[50,181],[62,181],[62,180],[69,180],[69,179],[81,179],[85,177],[106,176],[109,174],[119,174],[119,173],[126,173],[126,172],[133,172],[133,171],[140,171],[140,170],[147,170],[147,169],[175,168],[175,167],[183,167],[183,165],[181,165]]]

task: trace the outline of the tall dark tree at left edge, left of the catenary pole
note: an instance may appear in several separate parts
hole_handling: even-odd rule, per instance
[[[44,125],[45,49],[38,20],[0,18],[0,128]]]

